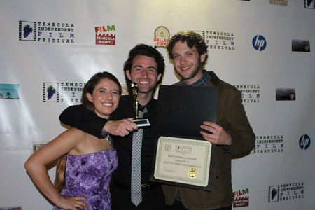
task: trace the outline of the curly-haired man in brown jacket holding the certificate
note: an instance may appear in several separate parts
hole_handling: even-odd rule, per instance
[[[202,137],[216,145],[211,192],[163,186],[168,209],[232,209],[231,153],[249,153],[255,134],[248,123],[241,92],[220,80],[214,72],[202,69],[207,61],[207,48],[202,36],[193,31],[175,34],[167,50],[181,81],[174,85],[218,87],[217,123],[204,122]],[[200,102],[202,103],[202,102]]]

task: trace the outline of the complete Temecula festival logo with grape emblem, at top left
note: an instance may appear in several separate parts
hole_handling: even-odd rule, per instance
[[[74,43],[74,25],[59,22],[19,21],[19,40],[46,43]]]

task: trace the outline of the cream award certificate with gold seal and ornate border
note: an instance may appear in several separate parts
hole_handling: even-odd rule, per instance
[[[196,139],[160,137],[154,178],[193,186],[208,186],[211,143]]]

